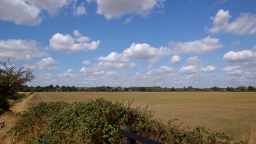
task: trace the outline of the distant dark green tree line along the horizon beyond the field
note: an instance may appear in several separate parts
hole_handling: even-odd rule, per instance
[[[238,86],[238,87],[211,87],[211,88],[167,88],[167,87],[75,87],[75,86],[46,86],[46,87],[28,87],[22,86],[20,92],[253,92],[256,88],[253,86]]]

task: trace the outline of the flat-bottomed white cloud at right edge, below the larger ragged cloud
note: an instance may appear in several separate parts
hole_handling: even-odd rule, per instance
[[[254,49],[252,50],[243,50],[243,51],[229,51],[228,53],[225,53],[223,56],[223,59],[225,59],[228,62],[249,62],[249,61],[256,61],[256,52],[254,52]]]

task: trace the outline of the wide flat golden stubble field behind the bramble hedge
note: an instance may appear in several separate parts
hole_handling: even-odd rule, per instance
[[[40,92],[28,105],[39,101],[86,101],[104,98],[133,107],[148,105],[155,118],[178,118],[190,127],[200,125],[226,133],[236,140],[256,143],[256,92]]]

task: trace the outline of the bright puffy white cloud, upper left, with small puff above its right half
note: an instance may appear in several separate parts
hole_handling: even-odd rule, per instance
[[[76,35],[79,35],[78,33],[74,32]],[[53,50],[62,51],[65,53],[77,52],[81,50],[96,50],[98,45],[100,45],[100,40],[92,41],[91,43],[75,43],[75,39],[69,34],[63,35],[56,33],[50,39],[50,47]]]

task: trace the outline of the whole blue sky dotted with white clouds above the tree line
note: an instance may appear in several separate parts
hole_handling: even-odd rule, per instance
[[[0,58],[28,86],[256,86],[255,1],[3,0]]]

